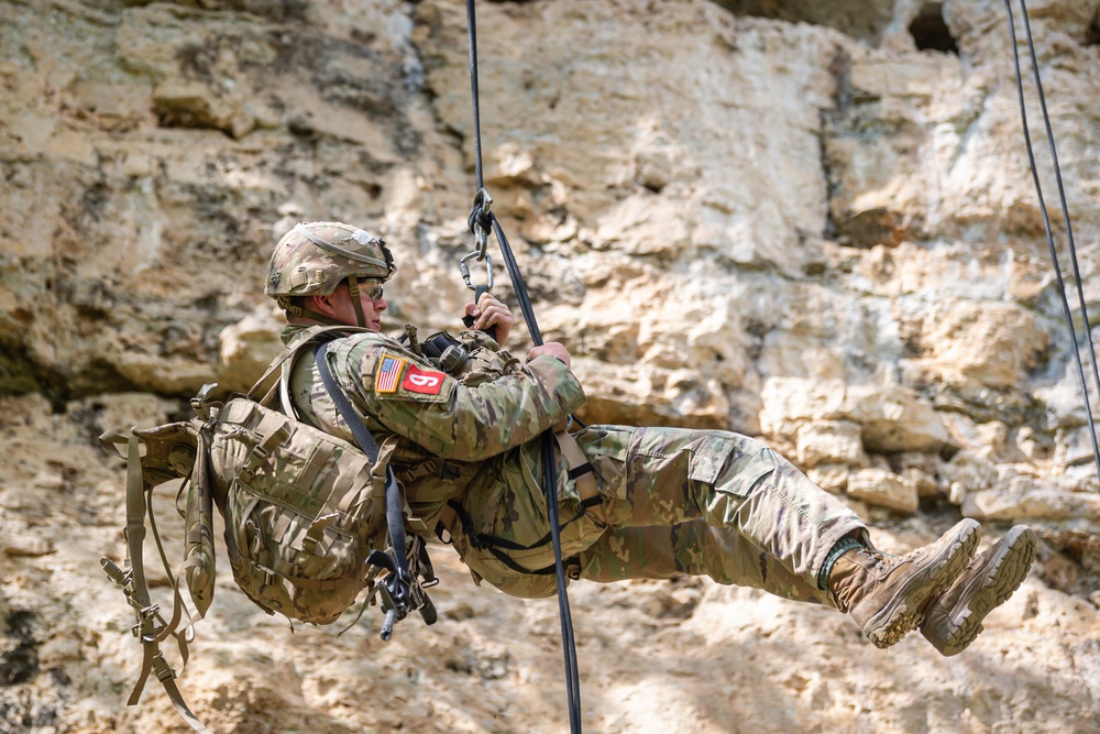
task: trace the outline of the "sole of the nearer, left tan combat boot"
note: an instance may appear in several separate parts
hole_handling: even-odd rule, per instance
[[[898,603],[887,605],[868,620],[864,636],[876,647],[895,645],[915,629],[924,622],[923,610],[927,601],[943,593],[966,570],[978,548],[981,533],[976,521],[965,519],[955,527],[960,525],[964,527],[958,530],[955,541],[941,550],[923,572],[910,579],[898,592]]]

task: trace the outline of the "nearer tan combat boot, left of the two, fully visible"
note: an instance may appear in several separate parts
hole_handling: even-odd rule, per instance
[[[980,536],[978,523],[965,519],[932,545],[904,556],[849,550],[828,576],[833,601],[851,613],[876,647],[890,647],[924,621],[928,600],[958,578]]]

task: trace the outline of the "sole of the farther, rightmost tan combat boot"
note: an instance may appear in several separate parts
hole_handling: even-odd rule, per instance
[[[1035,532],[1028,527],[1018,526],[1009,530],[997,554],[988,561],[989,568],[981,589],[969,600],[960,599],[939,625],[952,627],[948,634],[936,635],[945,639],[942,647],[936,646],[944,656],[950,657],[965,650],[985,628],[981,623],[986,615],[1008,601],[1020,588],[1035,559],[1037,543]],[[927,634],[925,636],[928,637]]]

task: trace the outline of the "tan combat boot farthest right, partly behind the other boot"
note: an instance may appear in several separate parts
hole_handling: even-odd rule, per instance
[[[966,649],[981,633],[981,621],[1012,595],[1027,577],[1038,539],[1016,525],[990,548],[975,556],[958,579],[925,611],[921,634],[943,655]]]

